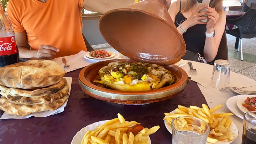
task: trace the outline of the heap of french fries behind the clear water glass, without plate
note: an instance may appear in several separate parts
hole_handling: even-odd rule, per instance
[[[206,104],[202,104],[202,107],[197,107],[193,105],[185,107],[182,105],[178,105],[178,108],[175,109],[175,114],[165,113],[165,117],[163,118],[163,120],[166,120],[166,123],[171,124],[172,119],[178,116],[195,116],[197,118],[200,118],[208,123],[211,128],[207,142],[216,143],[218,140],[225,138],[225,135],[227,135],[230,125],[232,123],[232,121],[229,119],[229,116],[233,115],[232,113],[214,113],[222,106],[223,105],[220,104],[213,107],[212,109],[209,109]],[[218,118],[222,118],[222,120],[219,121]],[[186,123],[191,124],[190,121],[182,121],[182,124]]]

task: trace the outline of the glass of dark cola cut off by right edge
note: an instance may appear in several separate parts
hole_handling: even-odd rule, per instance
[[[256,144],[256,111],[244,114],[242,144]]]

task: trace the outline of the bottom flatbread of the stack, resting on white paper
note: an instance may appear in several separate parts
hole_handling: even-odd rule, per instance
[[[67,94],[62,99],[54,101],[52,104],[38,104],[38,105],[22,105],[13,104],[8,101],[7,98],[0,98],[0,109],[6,114],[18,115],[18,116],[28,116],[31,113],[43,112],[43,111],[54,111],[58,109],[63,103],[68,99]]]

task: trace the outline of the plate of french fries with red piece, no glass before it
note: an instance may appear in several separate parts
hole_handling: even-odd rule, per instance
[[[143,128],[136,121],[126,121],[121,114],[111,120],[90,124],[77,132],[71,144],[151,144],[150,134],[160,127]]]

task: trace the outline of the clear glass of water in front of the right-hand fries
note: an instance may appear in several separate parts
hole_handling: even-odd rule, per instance
[[[180,116],[171,122],[172,144],[206,144],[210,126],[197,117]]]

